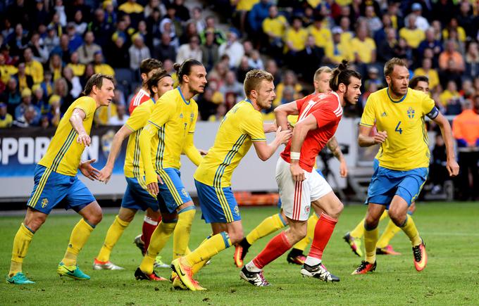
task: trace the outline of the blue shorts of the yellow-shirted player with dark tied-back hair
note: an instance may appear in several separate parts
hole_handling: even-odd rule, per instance
[[[165,208],[168,212],[175,212],[175,210],[182,204],[189,202],[192,198],[189,196],[185,185],[181,181],[180,170],[175,168],[164,168],[158,170],[158,174],[163,181],[163,184],[158,184],[160,189],[159,195],[165,201]],[[160,205],[161,212],[166,212]]]

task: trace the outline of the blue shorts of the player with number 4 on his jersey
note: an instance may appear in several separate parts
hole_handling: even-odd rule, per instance
[[[392,198],[397,195],[403,198],[408,206],[411,205],[421,192],[428,172],[428,168],[398,171],[378,166],[369,184],[366,204],[386,205],[386,208],[389,208]]]

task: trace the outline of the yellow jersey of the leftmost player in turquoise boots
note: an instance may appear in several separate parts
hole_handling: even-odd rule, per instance
[[[77,98],[75,102],[66,110],[65,115],[61,118],[56,128],[54,138],[51,139],[44,157],[38,162],[39,165],[45,166],[54,172],[74,177],[77,174],[80,158],[82,157],[84,145],[77,143],[77,132],[70,124],[70,117],[75,108],[79,108],[85,112],[83,127],[85,132],[89,134],[92,128],[92,122],[97,103],[92,97],[82,96]]]

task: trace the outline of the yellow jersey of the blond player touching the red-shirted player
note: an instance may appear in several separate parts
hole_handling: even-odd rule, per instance
[[[194,172],[194,179],[209,186],[231,186],[231,174],[253,141],[266,141],[266,135],[261,113],[247,99],[225,115],[213,146]]]

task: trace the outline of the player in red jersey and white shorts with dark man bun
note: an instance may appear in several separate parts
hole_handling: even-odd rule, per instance
[[[268,286],[263,267],[306,236],[311,205],[321,217],[316,223],[311,250],[301,274],[325,281],[339,281],[321,264],[321,257],[343,205],[328,182],[313,171],[313,166],[319,151],[336,132],[342,107],[347,102],[355,104],[358,101],[361,75],[349,69],[347,61],[343,60],[332,72],[330,87],[330,94],[311,94],[275,108],[276,122],[283,129],[287,128],[287,115],[299,115],[292,139],[276,165],[282,210],[290,229],[271,239],[266,248],[242,268],[239,276],[254,286]]]

